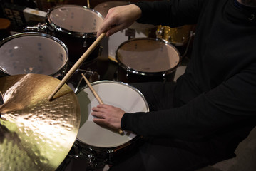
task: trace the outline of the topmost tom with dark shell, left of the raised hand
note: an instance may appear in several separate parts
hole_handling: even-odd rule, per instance
[[[47,12],[46,25],[53,36],[59,38],[68,47],[69,61],[76,63],[96,40],[98,28],[103,16],[86,6],[61,5]],[[86,61],[98,56],[99,46],[94,49]]]

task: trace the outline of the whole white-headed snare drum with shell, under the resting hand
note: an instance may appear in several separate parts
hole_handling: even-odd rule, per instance
[[[149,111],[148,103],[140,91],[126,83],[96,81],[91,85],[103,103],[128,113]],[[99,103],[87,86],[79,90],[76,96],[81,106],[81,124],[75,144],[82,157],[87,157],[90,162],[96,162],[98,167],[102,167],[106,163],[111,164],[115,157],[140,139],[133,133],[124,131],[125,135],[119,135],[115,130],[108,130],[94,123],[91,110]]]

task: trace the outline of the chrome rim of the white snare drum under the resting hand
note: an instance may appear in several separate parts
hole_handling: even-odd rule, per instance
[[[96,85],[96,84],[101,84],[101,83],[117,83],[117,84],[120,84],[120,85],[123,85],[123,86],[127,86],[128,88],[131,88],[131,89],[135,90],[135,92],[138,93],[141,98],[143,98],[143,100],[145,102],[145,105],[146,105],[146,110],[147,110],[147,112],[149,112],[149,105],[148,105],[147,100],[145,99],[144,95],[140,92],[140,90],[138,90],[134,86],[131,86],[128,83],[124,83],[124,82],[121,82],[121,81],[107,81],[107,80],[105,80],[105,81],[95,81],[95,82],[91,83],[91,86]],[[85,88],[88,88],[88,86],[86,85],[86,86],[83,86],[82,88],[80,88],[76,92],[76,95],[78,93],[80,93]],[[89,144],[87,144],[85,142],[82,142],[78,138],[76,138],[76,142],[78,143],[78,145],[81,145],[81,147],[86,147],[86,148],[91,149],[91,150],[108,151],[108,150],[118,150],[118,149],[121,149],[123,147],[127,147],[128,145],[130,145],[133,142],[135,142],[136,140],[138,140],[140,137],[141,137],[141,135],[135,135],[135,137],[133,139],[131,139],[128,142],[125,142],[125,143],[123,143],[121,145],[118,145],[116,147],[97,147],[97,146],[89,145]]]

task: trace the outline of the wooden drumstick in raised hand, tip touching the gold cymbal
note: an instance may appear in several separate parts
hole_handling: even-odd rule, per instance
[[[64,78],[62,78],[61,83],[58,84],[58,86],[55,88],[55,90],[53,90],[53,93],[51,93],[51,95],[49,95],[48,100],[51,100],[53,98],[53,96],[58,92],[58,90],[61,89],[61,87],[66,83],[66,81],[68,81],[69,78],[71,78],[71,76],[73,75],[73,73],[75,73],[76,69],[81,66],[81,64],[83,63],[83,61],[86,60],[86,58],[88,58],[88,56],[90,55],[90,53],[93,51],[94,48],[96,48],[96,46],[98,45],[98,43],[101,42],[101,39],[106,35],[106,33],[101,33],[100,36],[98,36],[98,38],[96,39],[96,41],[94,41],[91,46],[87,49],[87,51],[85,53],[83,53],[83,55],[78,59],[78,61],[76,61],[76,63],[72,66],[72,68],[68,71],[68,73],[66,74],[66,76],[64,76]]]

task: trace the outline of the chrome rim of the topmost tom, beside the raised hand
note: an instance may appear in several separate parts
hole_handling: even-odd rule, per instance
[[[98,11],[94,10],[94,9],[90,9],[87,6],[80,6],[80,5],[75,5],[75,4],[62,4],[62,5],[57,5],[54,6],[53,8],[49,9],[47,11],[46,14],[46,24],[48,25],[48,27],[50,27],[49,29],[51,31],[60,31],[62,33],[66,33],[75,37],[79,37],[79,38],[94,38],[97,36],[97,31],[94,32],[77,32],[77,31],[70,31],[66,28],[62,28],[61,26],[58,26],[57,24],[54,24],[53,21],[51,21],[50,16],[51,16],[51,11],[61,8],[61,7],[79,7],[82,9],[86,9],[89,11],[92,11],[93,13],[97,14],[98,17],[100,17],[101,19],[104,20],[104,17],[101,15],[101,13],[99,13]]]

